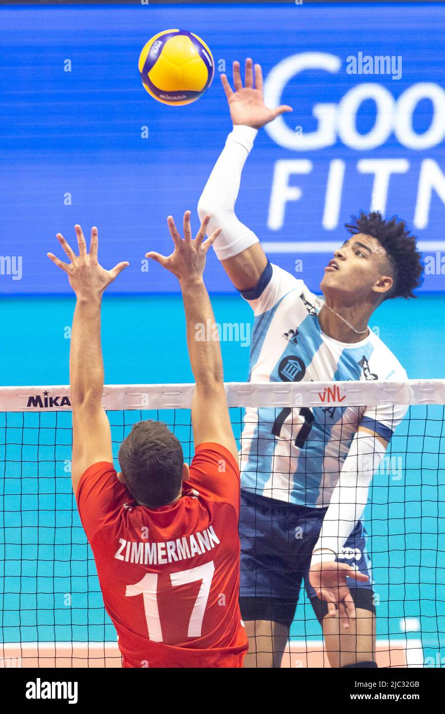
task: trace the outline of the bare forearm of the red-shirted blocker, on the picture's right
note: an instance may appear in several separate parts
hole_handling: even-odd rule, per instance
[[[187,347],[196,385],[223,381],[221,348],[203,278],[180,281],[186,313]]]

